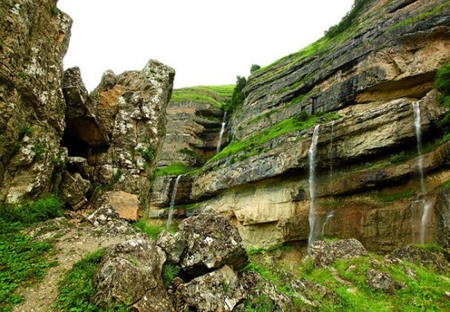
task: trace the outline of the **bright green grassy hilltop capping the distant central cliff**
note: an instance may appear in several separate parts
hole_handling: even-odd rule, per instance
[[[228,98],[231,98],[233,95],[233,89],[234,85],[198,86],[175,89],[170,102],[212,104],[218,108],[223,108]]]

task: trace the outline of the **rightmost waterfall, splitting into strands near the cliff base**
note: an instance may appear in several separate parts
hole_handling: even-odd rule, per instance
[[[413,112],[414,112],[414,129],[415,129],[415,138],[417,140],[417,154],[419,155],[417,157],[417,167],[420,175],[420,191],[422,194],[425,193],[425,183],[424,183],[424,157],[422,155],[422,131],[421,131],[421,121],[420,121],[420,106],[418,102],[413,103]],[[415,206],[417,204],[420,204],[422,207],[422,218],[420,218],[420,243],[425,243],[425,234],[426,234],[426,225],[428,224],[429,219],[429,211],[431,208],[431,200],[423,200],[419,199],[419,196],[417,196],[417,199],[411,204],[411,224],[412,229],[411,232],[413,233],[413,243],[415,243]]]

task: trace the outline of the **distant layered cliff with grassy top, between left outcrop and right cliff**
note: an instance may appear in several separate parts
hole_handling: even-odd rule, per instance
[[[167,135],[158,158],[152,206],[168,206],[177,175],[200,168],[217,153],[217,145],[226,146],[228,131],[224,123],[228,119],[222,107],[233,95],[233,89],[233,85],[224,85],[174,90],[167,110]],[[160,171],[168,172],[159,175]],[[191,176],[183,175],[177,185],[177,205],[192,202],[191,189]]]

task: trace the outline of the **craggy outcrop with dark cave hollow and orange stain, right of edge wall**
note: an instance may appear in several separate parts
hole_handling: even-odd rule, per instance
[[[68,109],[62,145],[70,164],[84,159],[87,169],[69,166],[66,173],[71,177],[63,180],[63,186],[80,173],[83,180],[100,187],[136,194],[141,207],[147,207],[173,80],[173,69],[150,60],[142,71],[117,76],[107,71],[88,95],[79,69],[68,69],[63,84]],[[65,193],[74,209],[87,202],[87,196],[74,198],[69,190]]]

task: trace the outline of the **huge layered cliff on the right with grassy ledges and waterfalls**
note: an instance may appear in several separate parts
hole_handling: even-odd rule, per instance
[[[433,84],[450,60],[450,4],[357,2],[348,27],[249,77],[233,141],[189,177],[185,200],[228,216],[248,246],[449,244],[447,109]]]

